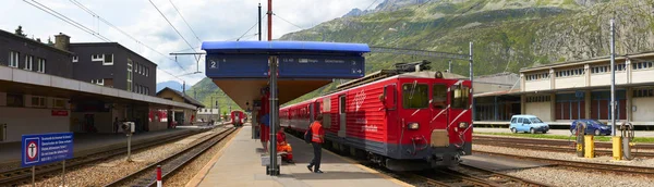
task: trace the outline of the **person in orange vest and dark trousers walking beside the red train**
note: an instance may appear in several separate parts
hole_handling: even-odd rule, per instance
[[[308,127],[308,130],[312,133],[311,146],[313,146],[314,149],[314,158],[308,165],[306,165],[306,169],[314,173],[323,173],[323,171],[320,171],[320,159],[323,157],[322,145],[325,142],[325,130],[323,129],[322,122],[323,115],[318,115],[316,116],[316,121]],[[313,166],[315,166],[315,169],[312,170]]]

